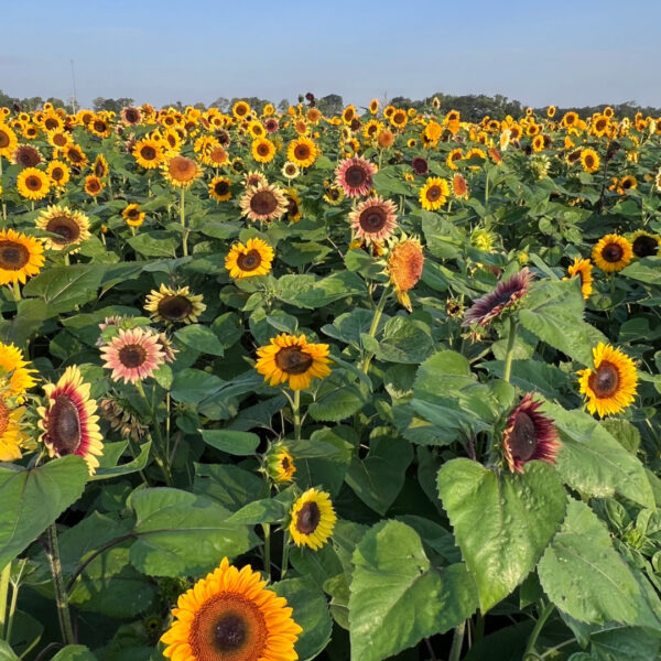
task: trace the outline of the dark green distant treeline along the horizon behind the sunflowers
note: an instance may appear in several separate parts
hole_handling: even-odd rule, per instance
[[[521,104],[516,99],[508,99],[508,97],[497,94],[496,96],[487,96],[484,94],[468,94],[468,95],[449,95],[437,91],[425,99],[410,99],[408,97],[393,97],[393,98],[381,98],[379,99],[382,105],[391,104],[397,106],[398,108],[430,108],[432,105],[432,100],[437,98],[441,102],[440,112],[448,112],[449,110],[458,110],[462,115],[462,119],[466,121],[480,121],[485,117],[491,117],[495,119],[503,119],[507,115],[511,115],[512,117],[520,117],[525,112],[527,106]],[[313,100],[311,100],[313,99]],[[231,109],[235,101],[238,101],[238,98],[226,98],[218,97],[210,107],[219,108],[221,111],[227,112]],[[243,97],[242,100],[246,100],[250,104],[252,108],[258,111],[261,111],[263,107],[271,102],[268,99],[260,99],[258,97]],[[338,94],[329,94],[321,98],[314,98],[313,95],[307,94],[305,96],[300,95],[299,102],[305,104],[314,104],[316,107],[324,112],[325,115],[338,115],[342,112],[345,107],[344,100],[342,96]],[[65,102],[62,99],[50,97],[47,99],[43,99],[42,97],[30,97],[30,98],[18,98],[11,97],[8,94],[4,94],[0,89],[0,107],[18,107],[21,110],[37,110],[42,108],[45,102],[51,102],[53,106],[57,108],[65,108],[67,112],[73,111],[73,107],[71,102]],[[107,110],[119,112],[126,106],[132,106],[134,104],[134,99],[128,97],[120,97],[117,99],[97,97],[93,101],[94,110]],[[564,112],[568,110],[574,110],[581,115],[581,117],[586,117],[593,115],[594,112],[602,111],[608,104],[600,104],[598,106],[582,106],[582,107],[567,107],[567,108],[557,108],[557,115],[562,116]],[[284,112],[290,106],[289,99],[282,99],[277,108]],[[164,107],[173,107],[180,110],[183,110],[186,107],[186,104],[182,101],[174,101],[172,104],[165,104]],[[207,108],[205,104],[194,104],[194,108],[199,108],[204,110]],[[636,112],[642,112],[643,116],[650,117],[660,117],[661,108],[652,108],[652,107],[643,107],[636,101],[626,101],[624,104],[611,104],[611,107],[615,110],[616,117],[632,117]],[[545,115],[546,107],[543,108],[534,108],[535,113]]]

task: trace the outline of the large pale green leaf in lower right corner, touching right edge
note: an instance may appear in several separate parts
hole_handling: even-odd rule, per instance
[[[621,622],[661,630],[661,621],[613,548],[606,527],[583,502],[570,500],[566,519],[540,561],[538,573],[549,598],[582,622]]]

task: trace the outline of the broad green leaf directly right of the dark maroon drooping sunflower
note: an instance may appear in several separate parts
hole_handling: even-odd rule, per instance
[[[596,498],[618,494],[654,508],[643,465],[606,427],[583,411],[565,411],[551,402],[543,404],[543,411],[555,421],[560,432],[562,447],[556,465],[567,485]]]

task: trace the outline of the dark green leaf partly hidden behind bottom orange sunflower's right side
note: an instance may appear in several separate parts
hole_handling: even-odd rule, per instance
[[[271,587],[286,599],[294,621],[303,629],[295,644],[299,659],[314,659],[328,644],[333,628],[324,593],[307,578],[288,578]]]

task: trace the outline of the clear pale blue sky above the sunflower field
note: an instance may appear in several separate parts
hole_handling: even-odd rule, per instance
[[[313,91],[661,107],[661,0],[0,0],[0,89],[163,105]]]

